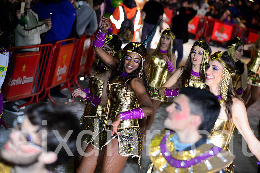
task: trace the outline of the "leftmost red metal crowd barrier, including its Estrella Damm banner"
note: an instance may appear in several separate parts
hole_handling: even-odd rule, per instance
[[[35,51],[24,50],[28,48]],[[22,105],[26,106],[32,103],[34,96],[43,91],[46,83],[46,79],[43,80],[43,72],[48,71],[46,64],[52,54],[53,45],[11,47],[10,50],[13,54],[14,72],[5,79],[3,97],[8,101],[31,97],[29,102]]]

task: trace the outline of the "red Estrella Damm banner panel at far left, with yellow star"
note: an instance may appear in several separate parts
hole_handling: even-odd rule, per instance
[[[10,99],[31,94],[41,52],[14,54],[14,72],[6,79],[3,97]]]

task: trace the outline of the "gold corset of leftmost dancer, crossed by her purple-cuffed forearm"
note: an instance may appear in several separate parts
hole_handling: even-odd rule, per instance
[[[96,78],[95,76],[90,76],[89,79],[90,94],[102,97],[103,90],[103,80]],[[104,114],[104,107],[97,105],[94,107],[89,102],[86,102],[83,116],[102,116]]]

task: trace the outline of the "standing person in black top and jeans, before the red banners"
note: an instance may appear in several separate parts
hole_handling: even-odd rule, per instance
[[[183,3],[186,6],[186,4]],[[172,32],[176,36],[173,42],[172,52],[174,53],[176,50],[178,52],[178,58],[176,61],[176,67],[179,67],[179,63],[181,62],[183,56],[183,45],[188,42],[188,22],[197,14],[197,11],[191,7],[181,7],[179,9],[179,14],[175,15],[172,18]]]

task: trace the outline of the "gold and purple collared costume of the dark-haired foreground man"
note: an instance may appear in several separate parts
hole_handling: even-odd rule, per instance
[[[176,151],[174,132],[162,130],[151,141],[150,165],[147,173],[213,173],[229,165],[234,157],[202,138],[196,149]],[[198,154],[200,153],[200,154]]]

